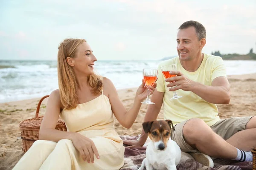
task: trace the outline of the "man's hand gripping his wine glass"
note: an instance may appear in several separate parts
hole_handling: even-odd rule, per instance
[[[194,86],[194,82],[192,80],[188,79],[180,71],[170,71],[169,74],[177,75],[175,77],[167,78],[165,80],[166,82],[170,82],[167,85],[167,87],[169,87],[169,91],[177,91],[179,89],[183,91],[191,91],[191,88]]]

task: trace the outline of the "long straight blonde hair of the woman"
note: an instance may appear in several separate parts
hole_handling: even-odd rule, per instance
[[[76,94],[78,82],[75,72],[67,63],[67,57],[75,58],[77,47],[86,42],[84,39],[65,39],[58,46],[58,86],[61,97],[61,104],[64,109],[76,108],[79,100]],[[92,87],[93,94],[99,94],[102,91],[102,77],[96,74],[89,75],[87,82]]]

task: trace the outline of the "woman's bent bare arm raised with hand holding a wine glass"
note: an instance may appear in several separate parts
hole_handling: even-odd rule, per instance
[[[147,97],[147,87],[145,86],[144,81],[137,90],[136,96],[134,98],[134,103],[132,107],[127,111],[122,104],[119,96],[117,94],[116,88],[110,79],[103,79],[104,89],[108,91],[108,98],[110,100],[111,108],[116,116],[116,119],[120,124],[125,128],[130,128],[133,125],[137,115],[140,111],[141,102]],[[156,83],[154,83],[153,87],[151,87],[151,94],[156,88]]]

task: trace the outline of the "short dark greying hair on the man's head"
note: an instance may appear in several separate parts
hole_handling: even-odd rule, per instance
[[[197,22],[197,21],[186,21],[185,23],[180,25],[178,30],[179,29],[186,29],[186,28],[189,28],[191,26],[195,28],[195,32],[196,32],[196,35],[198,37],[198,40],[201,40],[202,38],[206,38],[206,30],[205,30],[204,26],[201,23]]]

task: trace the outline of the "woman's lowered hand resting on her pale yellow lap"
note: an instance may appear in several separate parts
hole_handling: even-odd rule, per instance
[[[79,150],[79,153],[84,161],[87,161],[90,163],[94,163],[94,156],[95,154],[96,158],[99,159],[99,153],[96,149],[93,141],[79,133],[73,133],[73,136],[71,137],[71,141],[73,142],[74,146],[77,150]]]

